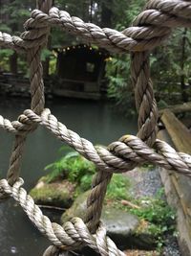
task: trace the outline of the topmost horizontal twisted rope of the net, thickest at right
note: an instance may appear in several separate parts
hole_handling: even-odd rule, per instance
[[[190,6],[188,1],[150,1],[145,10],[134,21],[134,27],[119,33],[112,29],[100,29],[95,24],[84,23],[77,17],[71,17],[68,12],[52,8],[49,12],[32,12],[32,18],[26,24],[26,29],[35,28],[34,32],[25,32],[18,36],[0,34],[0,45],[18,49],[30,49],[39,46],[44,41],[45,34],[40,31],[47,25],[59,25],[67,32],[80,35],[88,41],[110,51],[142,52],[151,50],[170,34],[170,28],[191,27]],[[48,9],[47,9],[48,10]],[[168,11],[168,12],[167,12]]]

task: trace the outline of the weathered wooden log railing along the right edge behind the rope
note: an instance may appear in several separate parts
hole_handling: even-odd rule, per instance
[[[191,133],[169,109],[163,110],[161,121],[166,128],[159,139],[171,140],[177,151],[191,153]],[[191,179],[160,169],[169,204],[177,211],[181,255],[191,255]]]

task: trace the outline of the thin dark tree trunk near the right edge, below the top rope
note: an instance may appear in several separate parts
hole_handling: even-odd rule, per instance
[[[181,59],[180,59],[180,86],[181,86],[181,97],[183,102],[188,102],[188,95],[186,93],[185,75],[184,75],[184,62],[185,62],[185,44],[186,44],[187,29],[184,29],[181,40]]]

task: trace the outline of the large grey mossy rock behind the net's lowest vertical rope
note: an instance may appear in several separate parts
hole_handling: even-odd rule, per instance
[[[87,191],[74,200],[72,207],[62,215],[62,223],[74,217],[84,219],[86,199],[89,194],[90,191]],[[141,221],[135,215],[114,208],[113,205],[104,205],[101,220],[106,225],[108,236],[122,249],[133,247],[153,249],[156,246],[155,238],[145,232],[146,228],[142,228]]]

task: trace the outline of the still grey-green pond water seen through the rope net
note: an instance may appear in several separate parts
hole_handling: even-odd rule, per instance
[[[124,118],[105,103],[72,100],[48,102],[53,115],[80,136],[94,144],[108,145],[123,134],[136,134],[135,118]],[[0,99],[0,114],[16,120],[30,104],[27,100]],[[11,154],[13,135],[0,130],[0,178],[6,176]],[[23,156],[21,175],[29,191],[37,179],[44,175],[44,167],[57,157],[63,146],[45,128],[38,128],[29,135]],[[0,256],[41,256],[48,240],[40,235],[22,209],[9,199],[0,204]]]

